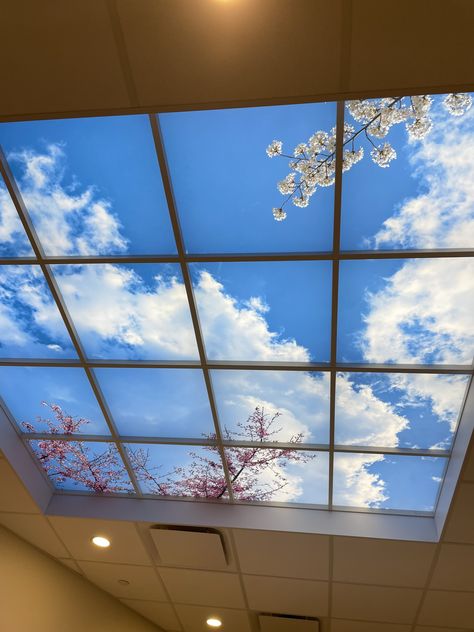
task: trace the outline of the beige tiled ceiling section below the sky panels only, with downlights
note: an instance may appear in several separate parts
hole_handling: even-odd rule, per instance
[[[322,632],[473,630],[473,448],[439,544],[224,529],[225,571],[169,566],[150,523],[43,516],[4,458],[0,524],[167,632],[202,631],[210,613],[256,632],[258,612],[318,617]],[[110,549],[91,546],[97,532]]]

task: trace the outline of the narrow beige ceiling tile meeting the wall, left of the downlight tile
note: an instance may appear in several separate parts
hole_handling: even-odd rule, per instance
[[[3,513],[0,514],[0,524],[39,549],[54,555],[54,557],[68,557],[69,555],[43,516]]]

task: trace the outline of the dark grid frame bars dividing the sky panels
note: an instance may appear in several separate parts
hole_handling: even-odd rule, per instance
[[[58,305],[58,309],[60,310],[63,321],[65,322],[68,333],[73,341],[74,347],[79,356],[78,361],[56,361],[56,360],[40,360],[40,359],[31,359],[31,360],[22,360],[22,359],[0,359],[0,365],[5,366],[77,366],[83,368],[86,371],[89,383],[91,384],[92,390],[94,392],[95,397],[98,400],[99,406],[106,418],[107,424],[109,428],[112,428],[112,439],[117,446],[121,458],[125,463],[125,467],[127,473],[132,481],[137,497],[149,497],[148,494],[144,494],[140,486],[136,480],[135,473],[132,470],[126,448],[123,446],[123,443],[127,440],[130,443],[138,443],[138,437],[125,437],[119,436],[118,432],[115,428],[115,423],[113,421],[112,415],[108,409],[107,402],[105,401],[104,396],[100,392],[99,385],[94,376],[94,368],[104,368],[104,367],[147,367],[147,368],[195,368],[201,369],[205,376],[206,389],[208,392],[208,397],[210,401],[213,421],[216,429],[216,441],[217,447],[219,450],[219,454],[221,457],[221,461],[224,467],[225,477],[227,486],[230,492],[230,500],[233,502],[232,498],[232,485],[230,481],[230,475],[227,467],[227,462],[224,456],[225,447],[233,446],[237,447],[242,444],[242,447],[256,447],[252,446],[250,443],[246,442],[231,442],[225,441],[222,438],[222,433],[220,429],[220,423],[218,419],[218,411],[215,403],[215,398],[212,390],[212,381],[209,371],[211,369],[247,369],[247,370],[259,370],[259,369],[272,369],[272,370],[298,370],[298,371],[328,371],[331,375],[331,387],[330,387],[330,442],[329,447],[315,445],[315,444],[302,444],[298,447],[301,450],[315,450],[315,451],[323,451],[329,452],[330,454],[330,472],[329,472],[329,508],[332,508],[332,488],[333,488],[333,458],[335,451],[341,452],[362,452],[362,453],[377,453],[377,454],[409,454],[412,456],[439,456],[448,458],[451,453],[449,451],[438,451],[436,454],[430,451],[427,454],[427,450],[422,451],[413,451],[410,449],[367,449],[360,448],[357,446],[338,446],[334,443],[334,427],[335,427],[335,376],[338,371],[354,371],[354,372],[389,372],[389,373],[436,373],[436,374],[462,374],[462,375],[472,375],[473,368],[464,366],[464,365],[354,365],[348,363],[342,363],[337,361],[336,349],[337,349],[337,299],[338,299],[338,267],[339,261],[341,260],[365,260],[365,259],[393,259],[393,258],[457,258],[457,257],[473,257],[474,250],[470,249],[444,249],[444,250],[404,250],[404,251],[340,251],[339,250],[339,238],[340,238],[340,213],[341,213],[341,192],[342,192],[342,148],[343,148],[343,120],[344,120],[344,101],[337,102],[337,140],[336,140],[336,185],[335,185],[335,196],[334,196],[334,228],[333,228],[333,250],[331,252],[313,252],[313,253],[264,253],[264,254],[252,254],[252,253],[242,253],[242,254],[186,254],[184,250],[183,237],[181,234],[181,229],[179,226],[179,217],[178,211],[176,209],[176,205],[174,202],[174,196],[172,191],[172,183],[170,179],[170,175],[168,173],[168,168],[166,164],[166,153],[165,148],[163,146],[163,142],[161,139],[161,132],[159,129],[159,114],[148,113],[149,120],[152,127],[152,133],[155,141],[155,148],[158,156],[158,163],[160,166],[162,180],[165,185],[165,193],[166,199],[168,203],[168,210],[170,213],[170,218],[173,225],[173,232],[175,236],[175,241],[178,247],[178,255],[174,256],[119,256],[119,257],[48,257],[46,256],[41,249],[39,244],[39,240],[35,235],[34,228],[29,220],[28,213],[26,209],[24,209],[24,205],[20,199],[20,209],[17,205],[17,195],[18,193],[16,183],[13,180],[13,176],[9,170],[8,163],[4,156],[2,156],[2,173],[5,171],[7,173],[6,184],[7,188],[12,195],[12,199],[14,199],[15,206],[17,207],[17,212],[20,215],[20,219],[27,230],[27,235],[33,245],[33,249],[38,259],[34,257],[23,257],[21,259],[15,260],[10,258],[2,258],[0,259],[0,264],[12,264],[12,265],[31,265],[31,264],[39,264],[43,270],[43,274],[50,286],[50,289],[53,293],[53,298],[55,303]],[[3,165],[4,163],[4,165]],[[16,193],[15,193],[16,191]],[[19,195],[19,193],[18,193]],[[15,199],[17,198],[17,199]],[[26,224],[26,225],[25,225]],[[189,275],[188,264],[192,262],[206,262],[206,261],[306,261],[306,260],[329,260],[332,261],[333,264],[333,287],[332,287],[332,324],[331,324],[331,361],[328,364],[318,364],[318,363],[309,363],[309,364],[300,364],[297,366],[290,365],[288,363],[265,363],[265,362],[254,362],[254,363],[246,363],[246,362],[212,362],[208,361],[205,354],[204,341],[202,338],[202,333],[200,331],[199,325],[199,317],[197,312],[197,307],[194,300],[192,283]],[[133,362],[133,361],[100,361],[100,360],[89,360],[86,358],[84,351],[82,350],[82,346],[80,344],[79,337],[75,332],[73,323],[65,305],[63,303],[62,297],[59,293],[59,290],[56,286],[54,277],[52,272],[50,271],[50,264],[57,263],[77,263],[77,264],[93,264],[93,263],[103,263],[103,262],[116,262],[116,263],[179,263],[184,283],[186,286],[186,292],[188,297],[188,303],[191,310],[193,327],[196,335],[196,339],[198,341],[198,349],[200,354],[199,362]],[[28,435],[31,439],[47,439],[49,435],[45,433],[32,433]],[[24,437],[25,438],[25,437]],[[63,437],[61,437],[63,438]],[[106,441],[104,437],[97,437],[96,435],[81,435],[81,438],[90,441]],[[70,439],[68,437],[68,439]],[[72,439],[73,440],[73,439]],[[212,441],[206,442],[205,440],[188,440],[188,439],[176,439],[176,438],[168,438],[168,437],[159,437],[159,438],[141,438],[141,443],[146,444],[175,444],[175,445],[214,445]],[[285,444],[279,443],[276,444],[265,444],[267,448],[281,448],[284,447]],[[294,447],[294,446],[289,446]],[[64,492],[59,492],[64,493]],[[68,492],[68,493],[79,493],[79,492]],[[189,500],[189,499],[185,499]],[[238,502],[237,504],[240,504]],[[297,507],[298,503],[278,503],[278,505],[283,504],[284,506]],[[338,508],[340,510],[340,508]],[[358,508],[349,508],[344,509],[348,511],[358,512]],[[384,513],[395,513],[399,515],[403,515],[405,512],[403,511],[388,511],[385,510]],[[413,513],[413,512],[410,512]],[[424,512],[414,512],[415,515],[426,515]],[[432,515],[432,514],[430,514]]]

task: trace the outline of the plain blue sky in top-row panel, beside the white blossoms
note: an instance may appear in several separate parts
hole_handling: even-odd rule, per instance
[[[336,124],[334,103],[180,112],[160,116],[188,252],[301,252],[332,248],[334,190],[295,209],[283,227],[272,217],[281,203],[276,182],[284,159],[269,160],[274,139],[289,153]]]

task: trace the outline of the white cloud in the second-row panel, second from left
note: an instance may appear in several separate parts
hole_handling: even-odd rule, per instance
[[[146,284],[116,265],[57,267],[57,280],[87,352],[103,357],[195,359],[184,285],[155,276]]]

